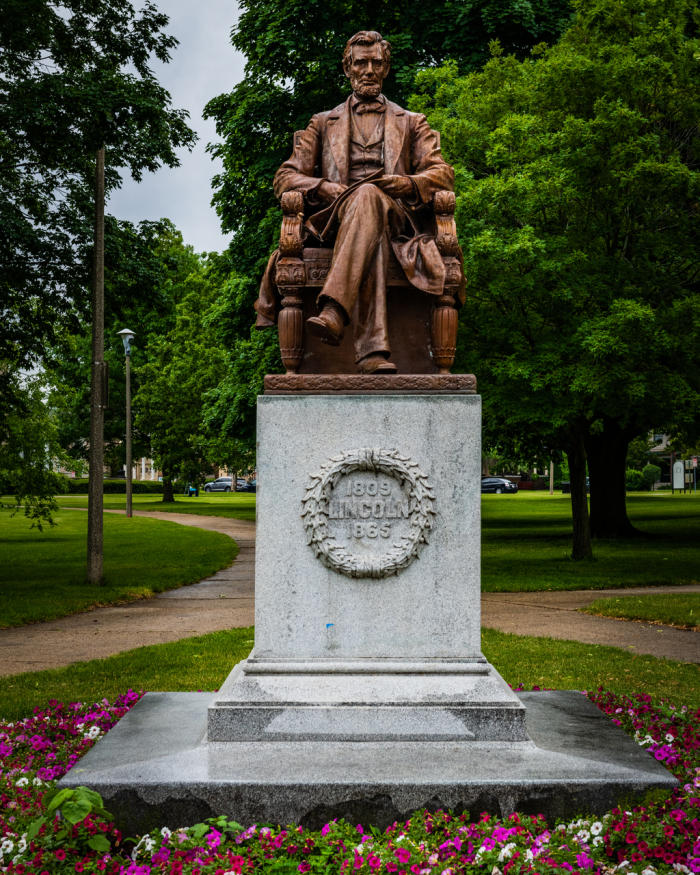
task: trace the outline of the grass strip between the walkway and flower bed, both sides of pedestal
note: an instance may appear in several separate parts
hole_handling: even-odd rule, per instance
[[[0,677],[0,718],[15,720],[49,699],[93,702],[134,690],[215,690],[247,656],[252,629],[232,629],[171,644],[140,647],[108,659]],[[527,638],[485,629],[486,657],[513,686],[645,692],[654,699],[700,705],[696,665],[634,656],[614,647]]]

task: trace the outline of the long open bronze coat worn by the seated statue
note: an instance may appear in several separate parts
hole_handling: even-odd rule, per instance
[[[305,193],[307,202],[322,179],[348,185],[351,142],[351,98],[328,112],[320,112],[309,122],[294,145],[294,152],[275,174],[274,190],[278,198],[285,191]],[[432,233],[425,224],[423,208],[430,205],[436,191],[454,188],[454,171],[440,152],[436,131],[428,125],[424,115],[402,109],[386,101],[384,122],[384,171],[386,175],[408,176],[416,188],[413,201],[402,200],[407,219],[404,233],[392,240],[394,253],[410,282],[429,294],[442,294],[444,266]],[[319,208],[324,206],[319,204]],[[421,215],[424,213],[424,215]],[[412,226],[412,229],[411,229]],[[273,253],[260,286],[255,308],[259,316],[272,320],[278,309],[278,295],[274,286],[274,268],[277,253]],[[463,303],[463,290],[460,291]]]

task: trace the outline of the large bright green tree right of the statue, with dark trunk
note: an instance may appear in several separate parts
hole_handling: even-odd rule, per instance
[[[694,0],[574,9],[523,60],[419,74],[410,106],[457,168],[459,369],[489,434],[567,451],[585,542],[585,463],[593,534],[628,534],[629,441],[700,425],[700,21]]]

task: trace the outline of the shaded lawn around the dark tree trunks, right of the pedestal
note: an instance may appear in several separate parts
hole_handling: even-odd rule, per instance
[[[572,562],[568,495],[482,496],[482,588],[613,589],[700,580],[700,498],[631,495],[628,512],[644,537],[596,541],[592,562]]]

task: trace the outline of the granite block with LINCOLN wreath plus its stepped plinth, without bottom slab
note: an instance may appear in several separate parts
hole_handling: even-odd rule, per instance
[[[258,401],[255,649],[210,741],[523,741],[481,653],[481,399]]]

